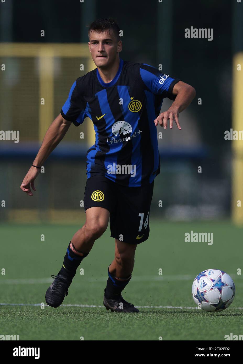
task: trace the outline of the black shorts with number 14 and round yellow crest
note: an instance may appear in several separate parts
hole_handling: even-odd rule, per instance
[[[94,175],[86,182],[84,209],[104,207],[110,213],[111,237],[130,244],[140,244],[150,232],[149,212],[154,181],[142,187],[127,187],[104,175]]]

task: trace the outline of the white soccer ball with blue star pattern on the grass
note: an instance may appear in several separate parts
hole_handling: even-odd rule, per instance
[[[198,308],[208,312],[219,312],[233,302],[235,285],[232,278],[223,270],[204,270],[193,281],[192,297]]]

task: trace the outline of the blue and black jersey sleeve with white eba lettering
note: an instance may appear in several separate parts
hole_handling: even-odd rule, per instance
[[[143,63],[140,67],[140,75],[144,84],[155,95],[161,95],[162,98],[168,97],[175,100],[176,95],[172,94],[174,85],[180,81],[179,78],[173,78],[163,74],[157,68]]]

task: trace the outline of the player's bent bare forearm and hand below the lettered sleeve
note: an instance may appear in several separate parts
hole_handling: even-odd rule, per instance
[[[170,120],[170,129],[173,127],[173,122],[181,130],[179,124],[179,113],[185,110],[187,106],[190,105],[194,97],[196,96],[196,90],[194,87],[188,85],[185,82],[177,82],[172,90],[172,94],[176,95],[175,101],[172,103],[171,107],[167,111],[162,112],[158,118],[154,120],[155,126],[160,124],[167,129],[167,120]]]

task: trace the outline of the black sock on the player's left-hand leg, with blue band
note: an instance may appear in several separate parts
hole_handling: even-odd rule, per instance
[[[70,248],[70,243],[68,244],[67,253],[63,261],[63,266],[61,267],[59,273],[62,276],[68,276],[68,278],[73,278],[75,276],[77,267],[80,265],[83,258],[87,257],[89,253],[83,253],[83,256],[73,253],[72,249]]]

